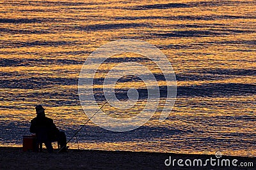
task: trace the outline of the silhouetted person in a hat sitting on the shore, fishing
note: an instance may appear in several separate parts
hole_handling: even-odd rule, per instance
[[[52,153],[52,142],[58,141],[60,152],[67,152],[67,138],[65,132],[59,131],[51,118],[45,117],[45,109],[41,105],[36,106],[36,117],[31,120],[29,131],[36,134],[37,143],[40,144],[42,152],[42,143],[45,144],[48,152]]]

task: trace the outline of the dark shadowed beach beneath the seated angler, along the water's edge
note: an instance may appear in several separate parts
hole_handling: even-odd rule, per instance
[[[0,169],[255,169],[256,159],[252,157],[227,157],[234,166],[166,166],[173,159],[216,159],[216,155],[186,155],[174,153],[122,152],[103,150],[68,150],[68,153],[22,152],[18,147],[0,147]],[[166,160],[168,159],[168,160]],[[220,160],[221,160],[220,159]],[[254,167],[241,167],[240,162],[253,162]],[[183,162],[184,164],[184,162]]]

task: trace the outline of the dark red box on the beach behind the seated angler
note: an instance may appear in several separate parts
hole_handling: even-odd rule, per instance
[[[35,135],[23,136],[23,152],[32,151],[38,152],[38,143]]]

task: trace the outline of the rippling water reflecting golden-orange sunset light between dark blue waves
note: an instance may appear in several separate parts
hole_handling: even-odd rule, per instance
[[[89,121],[70,148],[255,157],[255,9],[253,0],[1,1],[0,146],[22,145],[36,104],[45,106],[70,139],[88,120],[77,90],[86,58],[110,41],[140,39],[172,63],[177,99],[169,117],[159,122],[159,104],[146,124],[129,132],[107,131]],[[130,61],[150,68],[164,94],[163,74],[154,63],[125,53],[99,67],[94,91],[99,106],[105,102],[102,78]],[[115,117],[140,113],[147,103],[141,80],[133,77],[116,97],[127,100],[131,88],[140,94],[134,108],[106,104],[102,111]]]

